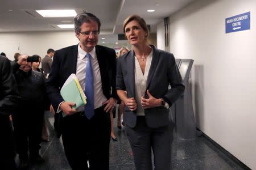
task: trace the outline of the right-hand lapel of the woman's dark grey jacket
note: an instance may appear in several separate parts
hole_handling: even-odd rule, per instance
[[[147,76],[147,88],[146,88],[146,90],[150,86],[153,75],[155,73],[156,66],[158,65],[158,61],[159,61],[158,50],[155,48],[154,45],[151,45],[151,47],[152,47],[152,50],[153,50],[153,56],[152,56],[152,61],[151,61],[151,65],[150,65],[150,70],[149,70],[148,76]]]

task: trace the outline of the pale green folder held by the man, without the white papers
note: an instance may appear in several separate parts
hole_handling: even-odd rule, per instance
[[[75,79],[73,79],[63,88],[61,88],[60,95],[65,101],[71,101],[73,103],[76,103],[76,105],[72,107],[73,109],[77,109],[81,105],[86,104],[86,100],[82,98],[82,94],[79,91],[79,87],[77,87]],[[65,116],[66,114],[63,113],[63,117]]]

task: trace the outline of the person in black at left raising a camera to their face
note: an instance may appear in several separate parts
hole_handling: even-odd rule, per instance
[[[28,150],[31,163],[44,162],[39,150],[43,113],[49,109],[49,102],[44,86],[44,75],[32,71],[31,62],[27,62],[26,55],[18,57],[18,62],[13,65],[13,74],[21,96],[18,109],[13,114],[14,135],[20,159],[19,167],[27,168]]]

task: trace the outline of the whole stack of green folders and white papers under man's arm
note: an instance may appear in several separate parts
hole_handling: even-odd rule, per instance
[[[60,95],[63,97],[65,101],[71,101],[76,103],[73,106],[73,109],[79,108],[81,105],[86,104],[86,96],[84,91],[82,91],[79,80],[77,79],[76,74],[71,74],[66,82],[63,84],[63,87],[60,90]],[[63,117],[66,114],[63,113]]]

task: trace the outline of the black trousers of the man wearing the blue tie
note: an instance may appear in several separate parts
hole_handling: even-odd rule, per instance
[[[82,113],[66,116],[62,126],[65,155],[72,169],[109,169],[111,124],[103,107],[95,109],[90,120]]]

